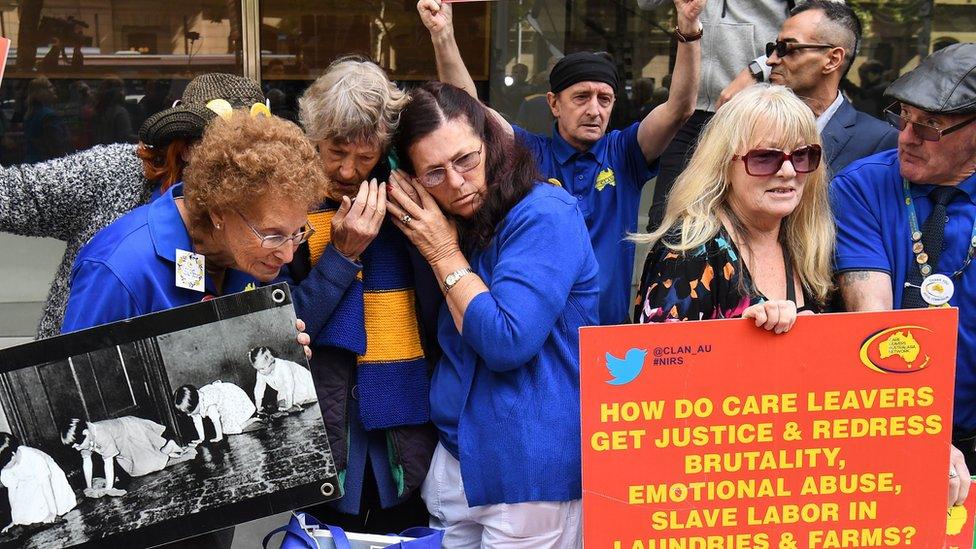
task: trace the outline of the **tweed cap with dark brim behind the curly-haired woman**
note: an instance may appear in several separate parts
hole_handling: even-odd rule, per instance
[[[214,99],[223,99],[235,109],[266,103],[261,86],[253,80],[219,72],[202,74],[186,85],[179,104],[146,119],[139,128],[139,140],[150,147],[165,147],[174,139],[199,139],[217,116],[207,108]]]

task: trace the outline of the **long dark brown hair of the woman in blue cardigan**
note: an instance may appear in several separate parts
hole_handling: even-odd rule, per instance
[[[457,219],[461,247],[469,251],[491,243],[498,224],[529,194],[539,174],[529,151],[505,132],[481,102],[442,82],[428,82],[410,92],[410,104],[403,109],[400,131],[394,138],[404,169],[414,173],[409,155],[414,143],[459,121],[469,124],[485,143],[487,194],[470,219]]]

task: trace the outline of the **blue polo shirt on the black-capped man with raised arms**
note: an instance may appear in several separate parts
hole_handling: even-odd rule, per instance
[[[657,175],[637,143],[640,122],[604,135],[586,152],[574,149],[554,127],[552,137],[513,126],[516,137],[539,164],[543,180],[569,191],[579,201],[600,266],[600,324],[630,322],[630,286],[637,249],[627,234],[637,232],[637,210],[644,184]],[[558,238],[558,237],[556,237]]]

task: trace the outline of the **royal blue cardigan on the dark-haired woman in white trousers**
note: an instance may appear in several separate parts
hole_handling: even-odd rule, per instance
[[[599,290],[576,200],[536,185],[468,259],[488,291],[468,304],[460,334],[441,307],[430,392],[468,505],[577,499],[579,328],[596,323]]]

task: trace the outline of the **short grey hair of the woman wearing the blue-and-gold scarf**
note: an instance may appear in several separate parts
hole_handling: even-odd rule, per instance
[[[329,65],[298,100],[302,127],[313,142],[337,140],[386,148],[400,123],[407,94],[379,65],[360,56]]]

